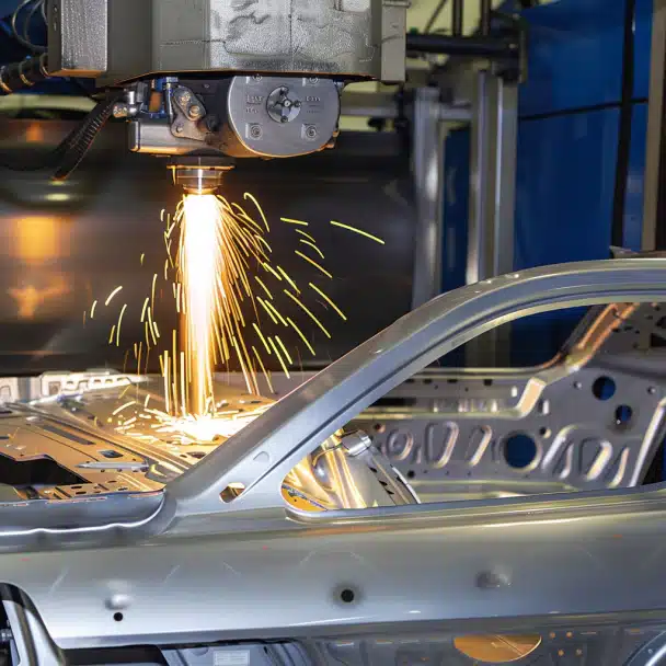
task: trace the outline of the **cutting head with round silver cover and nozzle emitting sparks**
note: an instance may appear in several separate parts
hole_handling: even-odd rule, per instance
[[[331,147],[341,89],[319,77],[141,81],[114,115],[129,122],[131,151],[169,156],[175,183],[210,192],[237,158],[287,158]]]

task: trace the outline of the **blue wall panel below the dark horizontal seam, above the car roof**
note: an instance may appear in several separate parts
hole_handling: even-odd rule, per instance
[[[619,111],[523,120],[516,269],[608,259]]]

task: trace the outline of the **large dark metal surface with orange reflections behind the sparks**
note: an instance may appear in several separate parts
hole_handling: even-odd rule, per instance
[[[69,129],[67,123],[8,120],[0,146],[22,160],[25,151],[54,147]],[[93,300],[118,285],[124,302],[140,311],[166,256],[160,211],[172,210],[182,191],[172,185],[165,162],[126,152],[123,124],[102,131],[69,181],[54,184],[49,175],[3,172],[0,183],[0,374],[123,369],[125,347],[106,344],[117,312],[100,311],[83,326],[83,311],[90,313]],[[313,269],[295,255],[295,233],[280,217],[309,221],[333,267],[329,295],[348,321],[331,318],[332,338],[318,341],[317,363],[337,358],[409,310],[412,190],[394,136],[355,134],[342,137],[334,151],[279,164],[245,160],[225,176],[220,193],[242,203],[244,192],[264,208],[276,262],[295,279],[307,284]],[[332,219],[363,228],[386,245],[335,229]],[[391,298],[381,308],[368,307],[384,292]],[[174,323],[171,309],[166,302],[165,328]],[[143,337],[138,318],[128,318],[125,328],[129,346]],[[159,371],[157,356],[149,369]]]

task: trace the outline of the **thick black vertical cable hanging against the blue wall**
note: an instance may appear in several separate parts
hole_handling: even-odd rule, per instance
[[[612,198],[610,244],[622,246],[624,242],[624,206],[627,203],[627,179],[631,153],[631,122],[633,115],[633,70],[635,0],[624,0],[624,34],[622,45],[622,92],[618,128],[618,158]]]

